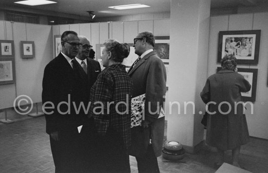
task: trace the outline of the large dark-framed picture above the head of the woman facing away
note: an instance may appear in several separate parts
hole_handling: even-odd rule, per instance
[[[220,31],[218,62],[228,54],[239,64],[258,64],[261,30]]]

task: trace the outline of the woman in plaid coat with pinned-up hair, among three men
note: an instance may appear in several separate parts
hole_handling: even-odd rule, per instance
[[[98,172],[130,173],[132,80],[121,63],[128,57],[127,44],[108,39],[102,51],[106,67],[90,92],[89,116],[94,117]]]

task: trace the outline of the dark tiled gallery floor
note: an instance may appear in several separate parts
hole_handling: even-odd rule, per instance
[[[49,137],[45,133],[44,116],[20,117],[13,124],[0,125],[0,173],[53,173],[55,170],[50,151]],[[204,146],[197,154],[186,154],[184,163],[162,162],[158,158],[161,173],[214,173],[215,149]],[[226,153],[230,163],[231,152]],[[138,173],[131,156],[131,171]],[[268,141],[251,138],[242,146],[240,164],[253,173],[268,172]]]

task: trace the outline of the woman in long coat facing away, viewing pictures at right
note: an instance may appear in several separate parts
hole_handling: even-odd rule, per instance
[[[218,150],[215,167],[223,164],[226,150],[232,150],[232,164],[240,167],[240,146],[249,142],[241,92],[248,92],[251,85],[237,73],[236,64],[233,55],[226,55],[221,60],[222,69],[207,79],[200,94],[204,103],[212,102],[208,110],[206,142]]]

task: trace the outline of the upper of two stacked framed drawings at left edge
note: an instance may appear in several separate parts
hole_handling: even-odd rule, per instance
[[[13,58],[14,57],[14,41],[13,40],[0,40],[1,53],[0,58]]]

